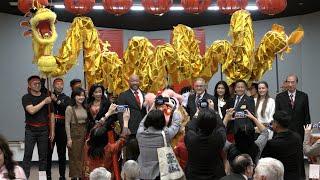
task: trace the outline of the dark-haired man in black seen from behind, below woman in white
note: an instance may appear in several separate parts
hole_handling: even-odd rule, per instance
[[[301,137],[288,129],[290,115],[286,111],[276,111],[273,115],[272,129],[276,133],[262,152],[262,157],[272,157],[282,162],[284,180],[302,180],[304,165]]]

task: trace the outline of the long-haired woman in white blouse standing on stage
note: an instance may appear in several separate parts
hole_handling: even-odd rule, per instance
[[[255,98],[257,119],[265,126],[268,126],[273,120],[275,111],[275,101],[269,96],[269,86],[265,81],[258,83],[258,97]]]

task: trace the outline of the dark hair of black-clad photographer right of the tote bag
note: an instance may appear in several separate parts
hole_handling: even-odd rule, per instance
[[[201,108],[197,117],[198,127],[205,135],[210,135],[217,127],[217,115],[210,108]]]

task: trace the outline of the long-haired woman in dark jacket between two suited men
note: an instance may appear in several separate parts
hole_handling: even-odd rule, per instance
[[[218,112],[221,119],[226,115],[227,102],[230,99],[229,86],[225,81],[219,81],[214,87],[214,97],[218,99]]]

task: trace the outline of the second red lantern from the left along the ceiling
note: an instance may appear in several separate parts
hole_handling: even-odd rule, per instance
[[[76,15],[89,13],[95,3],[95,0],[64,0],[66,10]]]

